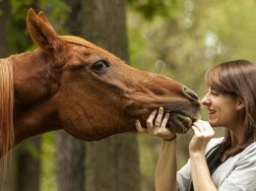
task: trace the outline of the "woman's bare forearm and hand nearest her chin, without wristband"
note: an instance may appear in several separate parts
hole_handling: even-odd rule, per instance
[[[195,135],[189,143],[189,155],[194,190],[217,190],[211,178],[205,158],[205,148],[215,132],[207,121],[202,120],[194,122],[192,129],[194,130]]]

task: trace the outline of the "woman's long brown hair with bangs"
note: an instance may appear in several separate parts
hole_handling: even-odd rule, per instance
[[[209,69],[205,76],[207,86],[221,94],[239,97],[245,106],[244,136],[238,148],[231,148],[230,131],[225,129],[221,144],[227,157],[243,151],[256,139],[256,65],[247,60],[224,62]]]

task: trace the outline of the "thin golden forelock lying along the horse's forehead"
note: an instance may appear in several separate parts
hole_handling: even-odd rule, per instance
[[[104,50],[103,48],[98,47],[96,44],[82,38],[82,37],[78,37],[78,36],[73,36],[73,35],[61,35],[60,36],[61,39],[67,41],[68,43],[73,43],[73,44],[77,44],[77,45],[81,45],[81,46],[85,46],[91,49],[94,49],[100,53],[102,53],[103,55],[107,56],[107,57],[111,57],[117,60],[121,60],[120,58],[116,57],[114,54]]]

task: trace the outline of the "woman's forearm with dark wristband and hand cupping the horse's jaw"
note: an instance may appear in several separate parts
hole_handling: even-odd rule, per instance
[[[147,128],[143,128],[139,121],[136,121],[136,128],[139,133],[147,133],[152,136],[157,136],[162,139],[160,158],[158,161],[155,185],[157,191],[174,191],[176,188],[176,139],[169,140],[176,135],[165,128],[169,118],[167,113],[163,118],[163,109],[154,110],[147,120]],[[157,118],[156,118],[157,117]],[[154,119],[156,122],[154,124]]]

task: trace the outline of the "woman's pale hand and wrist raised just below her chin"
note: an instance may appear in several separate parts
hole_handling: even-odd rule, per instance
[[[202,153],[205,155],[205,148],[208,142],[214,137],[215,131],[208,121],[203,120],[195,121],[192,129],[195,135],[189,143],[189,153]]]

